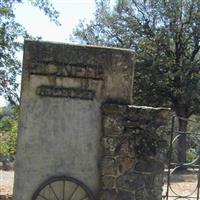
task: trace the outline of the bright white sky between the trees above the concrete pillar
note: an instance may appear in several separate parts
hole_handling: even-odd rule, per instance
[[[56,26],[38,8],[29,3],[16,5],[16,20],[22,24],[33,36],[41,36],[42,40],[54,42],[69,42],[69,36],[80,19],[89,21],[95,12],[95,0],[51,0],[55,9],[60,13],[59,22]],[[22,59],[22,53],[19,54]],[[0,106],[5,101],[0,97]]]

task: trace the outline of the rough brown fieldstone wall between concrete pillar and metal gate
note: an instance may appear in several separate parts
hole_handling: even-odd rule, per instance
[[[161,200],[168,110],[104,104],[100,200]]]

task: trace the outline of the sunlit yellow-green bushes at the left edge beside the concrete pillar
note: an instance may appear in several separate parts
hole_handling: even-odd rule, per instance
[[[0,157],[13,156],[16,153],[18,127],[18,108],[14,108],[10,116],[0,121]]]

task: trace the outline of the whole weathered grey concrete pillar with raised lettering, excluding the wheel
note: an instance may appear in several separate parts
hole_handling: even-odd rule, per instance
[[[52,176],[99,190],[101,103],[131,102],[133,53],[26,41],[14,200]]]

